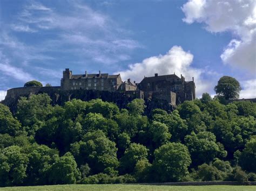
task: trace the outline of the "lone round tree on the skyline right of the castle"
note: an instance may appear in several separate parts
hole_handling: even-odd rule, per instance
[[[230,100],[239,97],[241,86],[240,83],[234,79],[234,77],[223,76],[219,79],[214,90],[216,94],[224,96],[226,100]]]

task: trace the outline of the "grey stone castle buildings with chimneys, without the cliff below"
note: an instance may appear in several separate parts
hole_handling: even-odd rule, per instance
[[[63,78],[60,82],[62,90],[99,90],[139,92],[139,98],[157,98],[165,100],[172,105],[183,103],[186,100],[194,100],[196,97],[196,86],[194,78],[192,81],[185,81],[184,76],[178,77],[175,74],[144,77],[140,83],[132,82],[130,79],[122,81],[120,74],[109,75],[107,73],[73,75],[69,68],[63,71]]]

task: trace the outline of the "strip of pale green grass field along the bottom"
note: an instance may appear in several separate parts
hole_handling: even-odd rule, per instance
[[[0,190],[256,190],[256,186],[54,185],[5,187]]]

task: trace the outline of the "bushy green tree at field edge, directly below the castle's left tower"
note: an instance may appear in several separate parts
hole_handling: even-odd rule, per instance
[[[80,171],[71,153],[66,153],[63,157],[56,157],[55,162],[50,167],[49,182],[51,184],[73,184],[80,179]]]

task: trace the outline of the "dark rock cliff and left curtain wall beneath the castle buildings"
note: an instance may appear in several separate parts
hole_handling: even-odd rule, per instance
[[[118,105],[120,109],[126,108],[127,103],[131,102],[136,98],[144,98],[143,91],[99,91],[99,90],[62,90],[59,86],[57,87],[23,87],[23,88],[12,88],[7,91],[3,104],[7,105],[11,112],[15,113],[17,109],[17,103],[20,97],[29,97],[33,94],[48,94],[51,97],[52,105],[64,105],[66,101],[70,101],[73,98],[90,101],[92,99],[100,98],[103,101],[113,102]],[[166,100],[161,98],[146,98],[146,114],[150,115],[152,109],[160,108],[166,111],[172,111],[172,105]]]

